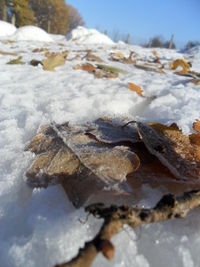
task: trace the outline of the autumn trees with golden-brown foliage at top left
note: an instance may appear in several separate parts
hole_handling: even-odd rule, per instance
[[[0,0],[0,20],[16,27],[35,25],[64,35],[84,25],[78,10],[64,0]]]

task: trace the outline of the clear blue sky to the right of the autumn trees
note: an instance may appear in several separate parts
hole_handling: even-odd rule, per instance
[[[200,41],[200,0],[67,0],[82,15],[86,27],[130,34],[135,43],[161,35],[175,36],[183,46]]]

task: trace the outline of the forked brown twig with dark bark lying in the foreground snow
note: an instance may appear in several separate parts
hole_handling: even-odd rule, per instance
[[[116,235],[124,224],[132,228],[139,225],[166,221],[172,218],[184,218],[187,213],[200,206],[200,190],[186,192],[181,196],[165,195],[152,209],[130,208],[128,206],[111,206],[94,204],[86,211],[104,219],[104,223],[96,237],[85,243],[78,255],[67,263],[56,267],[89,267],[99,252],[107,259],[114,257],[114,246],[111,238]]]

